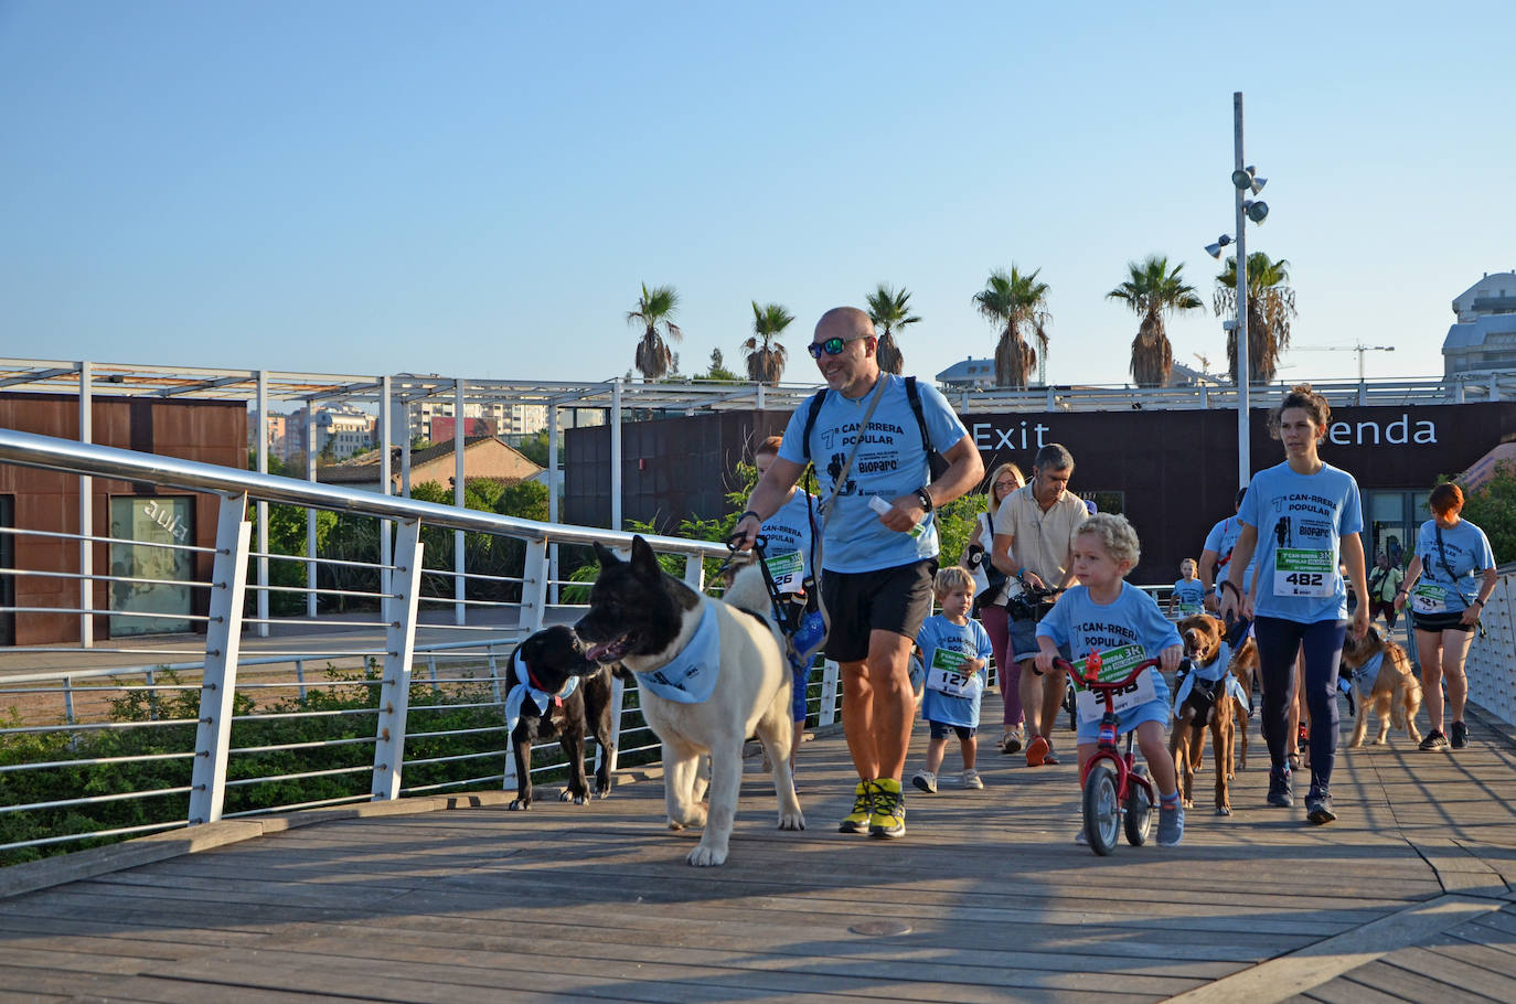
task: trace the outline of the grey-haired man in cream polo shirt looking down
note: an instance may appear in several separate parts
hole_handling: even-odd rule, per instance
[[[1090,511],[1079,496],[1069,491],[1072,476],[1073,455],[1063,444],[1049,443],[1037,450],[1031,481],[1007,496],[994,514],[994,567],[1032,588],[1066,588],[1073,582],[1073,535]],[[1067,673],[1055,669],[1038,676],[1032,672],[1031,661],[1037,655],[1035,605],[1017,610],[1016,601],[1011,601],[1007,614],[1014,666],[1007,667],[1001,686],[1020,689],[1029,737],[1026,766],[1055,764],[1052,725],[1063,704]]]

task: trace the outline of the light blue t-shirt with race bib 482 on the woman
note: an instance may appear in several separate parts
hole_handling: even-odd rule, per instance
[[[1289,463],[1260,470],[1237,516],[1258,529],[1257,616],[1298,623],[1348,617],[1348,584],[1337,570],[1342,538],[1363,529],[1352,475],[1331,464],[1314,475],[1296,473]]]

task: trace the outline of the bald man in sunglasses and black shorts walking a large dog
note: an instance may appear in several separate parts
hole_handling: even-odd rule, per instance
[[[879,370],[878,344],[873,322],[863,311],[838,306],[822,315],[808,349],[828,390],[822,391],[810,443],[800,441],[807,438],[807,403],[790,417],[779,457],[753,488],[732,538],[750,547],[763,520],[788,497],[814,458],[826,507],[826,657],[841,666],[843,728],[860,778],[854,810],[840,830],[888,839],[905,834],[901,777],[916,717],[910,654],[932,605],[938,552],[932,511],[973,488],[984,476],[984,463],[937,388],[919,387],[917,422],[905,381]],[[948,461],[935,479],[923,431]]]

